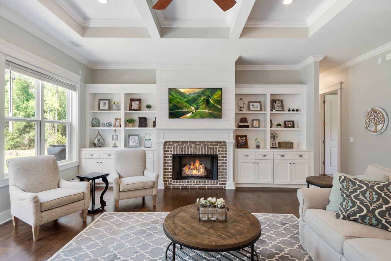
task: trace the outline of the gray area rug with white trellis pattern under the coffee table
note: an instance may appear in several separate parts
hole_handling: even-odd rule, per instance
[[[164,254],[170,243],[163,232],[167,214],[102,213],[49,260],[165,260]],[[262,236],[255,243],[260,261],[312,261],[300,245],[298,219],[294,215],[254,215],[262,225]],[[185,247],[183,250],[192,256],[192,259],[183,257],[183,260],[238,260],[235,256],[224,259],[217,253],[213,253],[217,258],[207,256],[203,259]]]

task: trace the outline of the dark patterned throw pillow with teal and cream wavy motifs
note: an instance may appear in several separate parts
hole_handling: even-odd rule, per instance
[[[339,219],[354,220],[391,231],[391,182],[339,177],[343,201]]]

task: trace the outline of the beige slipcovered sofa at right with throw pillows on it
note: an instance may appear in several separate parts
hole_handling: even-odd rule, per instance
[[[384,174],[391,180],[391,170],[369,164],[365,175]],[[314,261],[385,261],[391,260],[391,232],[355,221],[335,218],[327,211],[330,188],[298,189],[300,202],[300,242]]]

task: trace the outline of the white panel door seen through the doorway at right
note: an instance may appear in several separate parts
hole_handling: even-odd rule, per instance
[[[325,174],[338,171],[338,95],[325,95]]]

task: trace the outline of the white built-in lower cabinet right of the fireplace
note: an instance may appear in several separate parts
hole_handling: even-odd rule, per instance
[[[311,151],[236,150],[235,177],[240,184],[305,184],[310,176]],[[273,185],[275,186],[275,185]]]

